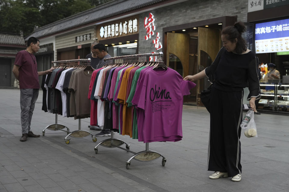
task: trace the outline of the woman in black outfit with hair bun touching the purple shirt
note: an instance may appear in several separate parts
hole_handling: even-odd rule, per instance
[[[259,95],[258,58],[247,49],[242,38],[246,28],[242,22],[222,30],[223,47],[215,61],[196,75],[184,80],[196,81],[213,76],[210,95],[210,140],[207,170],[214,171],[210,179],[232,177],[241,181],[241,121],[244,90],[249,82],[250,107],[256,111]]]

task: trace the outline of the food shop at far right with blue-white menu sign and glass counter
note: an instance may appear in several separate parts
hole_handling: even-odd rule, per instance
[[[248,5],[253,25],[253,48],[261,65],[259,111],[287,114],[289,110],[289,1],[261,1]],[[268,64],[276,65],[280,80],[268,78]]]

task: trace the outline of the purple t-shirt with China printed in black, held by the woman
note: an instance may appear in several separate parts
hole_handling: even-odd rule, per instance
[[[196,84],[170,68],[149,68],[138,81],[132,104],[144,110],[143,127],[138,127],[143,142],[181,140],[183,96]]]

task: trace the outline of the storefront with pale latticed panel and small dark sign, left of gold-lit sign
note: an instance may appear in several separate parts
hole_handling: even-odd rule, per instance
[[[55,58],[57,61],[85,58],[91,43],[96,41],[96,27],[88,27],[55,36]]]

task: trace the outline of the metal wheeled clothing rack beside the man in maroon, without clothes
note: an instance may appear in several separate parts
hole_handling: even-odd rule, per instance
[[[87,66],[91,67],[90,61],[91,61],[91,59],[88,58],[88,59],[72,59],[72,60],[62,60],[62,61],[51,61],[51,63],[52,63],[53,67],[57,67],[57,66],[72,67],[72,66],[76,66],[76,65],[87,65]],[[73,62],[73,64],[69,64],[72,62]],[[59,64],[59,65],[57,65],[57,64]],[[67,130],[64,130],[64,128],[66,128]],[[46,128],[44,128],[42,130],[43,136],[45,135],[45,129],[49,129],[51,131],[67,132],[67,136],[64,138],[66,144],[70,143],[70,139],[67,138],[69,136],[74,137],[74,138],[84,138],[84,137],[91,135],[92,141],[93,142],[97,141],[95,136],[92,135],[89,131],[81,130],[81,119],[78,119],[78,130],[70,132],[69,128],[67,128],[65,125],[57,123],[57,113],[55,114],[55,124],[48,125]]]

